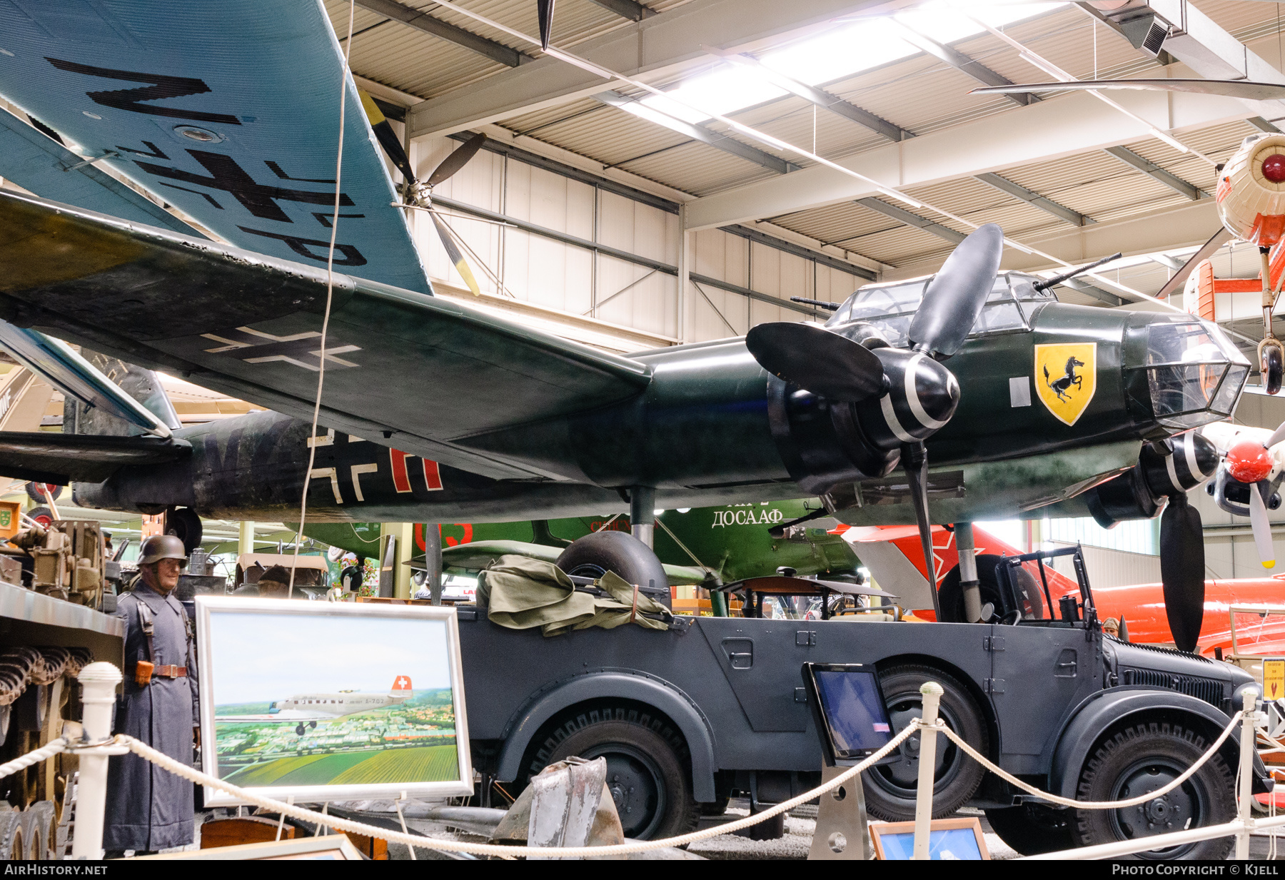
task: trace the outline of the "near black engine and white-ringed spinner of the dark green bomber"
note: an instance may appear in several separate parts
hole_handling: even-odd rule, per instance
[[[926,355],[876,347],[887,393],[858,403],[770,380],[767,411],[772,438],[790,478],[825,495],[840,483],[887,475],[903,443],[917,443],[944,425],[960,400],[955,375]]]

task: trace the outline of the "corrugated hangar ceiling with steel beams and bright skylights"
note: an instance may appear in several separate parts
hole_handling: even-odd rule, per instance
[[[523,32],[536,30],[535,4],[527,0],[463,5]],[[902,13],[891,19],[898,6]],[[329,0],[328,8],[337,31],[344,33],[347,4]],[[1077,78],[1191,76],[1164,53],[1155,58],[1135,49],[1087,4],[964,9],[983,23],[1004,22],[1005,36]],[[1279,64],[1275,4],[1212,0],[1200,3],[1199,10],[1250,51]],[[957,19],[943,23],[950,14],[944,5],[851,0],[564,0],[558,5],[554,45],[662,89],[677,89],[676,94],[721,103],[738,122],[810,150],[815,145],[813,152],[828,159],[858,170],[866,163],[871,176],[901,184],[914,200],[973,224],[998,222],[1010,238],[1061,260],[1087,261],[1114,249],[1156,254],[1159,262],[1136,260],[1117,270],[1126,288],[1154,293],[1172,271],[1167,263],[1181,261],[1183,249],[1217,227],[1209,198],[1212,162],[1222,162],[1246,135],[1270,123],[1255,108],[1228,99],[1183,101],[1115,92],[1119,103],[1148,119],[1167,116],[1168,125],[1160,127],[1191,150],[1183,153],[1085,94],[1043,100],[969,95],[987,81],[1050,77],[1000,36],[966,23],[960,27]],[[950,40],[952,27],[971,33]],[[470,37],[482,40],[466,45]],[[891,49],[898,39],[900,48]],[[811,78],[804,85],[839,109],[820,107],[816,94],[810,99],[774,87],[748,66],[712,54],[702,40],[763,59],[772,66],[768,76]],[[642,46],[640,63],[627,64],[622,46]],[[810,67],[808,58],[821,55],[839,57],[830,63],[839,72],[816,81],[826,76],[825,64]],[[518,45],[439,4],[359,0],[352,68],[414,101],[409,113],[414,137],[487,126],[535,152],[565,150],[627,176],[641,189],[651,184],[662,188],[654,191],[682,194],[689,227],[750,221],[790,230],[830,253],[878,267],[885,277],[932,271],[969,231],[959,220],[885,195],[835,199],[834,172],[819,173],[829,170],[729,132],[722,123],[695,119],[687,131],[660,125],[654,113],[646,117],[650,108],[640,104],[645,94],[639,90],[542,58],[537,48]],[[766,98],[753,100],[762,94]],[[738,100],[753,103],[736,107]],[[1285,116],[1285,108],[1277,116]],[[900,181],[898,162],[905,163]],[[916,175],[924,182],[912,180]],[[1225,248],[1216,268],[1227,274],[1239,262],[1249,270],[1250,256],[1240,257]],[[1010,249],[1005,266],[1051,270],[1055,263]],[[1065,289],[1061,294],[1070,302],[1101,302]]]

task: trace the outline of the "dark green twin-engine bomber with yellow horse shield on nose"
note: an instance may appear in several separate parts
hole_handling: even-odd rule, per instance
[[[234,518],[297,504],[308,441],[293,419],[311,415],[315,373],[301,365],[320,356],[324,272],[22,195],[3,197],[0,238],[6,320],[292,418],[167,439],[9,437],[8,473],[51,479],[51,459],[73,453],[99,483],[77,487],[86,504]],[[93,257],[63,261],[68,242]],[[321,423],[338,433],[312,441],[325,462],[310,510],[442,522],[822,495],[851,524],[917,522],[926,545],[930,520],[1051,504],[1153,516],[1171,497],[1162,541],[1190,543],[1181,568],[1195,572],[1167,574],[1171,618],[1199,618],[1185,491],[1214,453],[1182,432],[1232,411],[1249,364],[1189,315],[1059,303],[1051,281],[1001,272],[1001,251],[987,225],[938,274],[862,288],[824,326],[628,357],[337,275]],[[238,448],[267,466],[244,468]],[[161,459],[172,464],[128,464]]]

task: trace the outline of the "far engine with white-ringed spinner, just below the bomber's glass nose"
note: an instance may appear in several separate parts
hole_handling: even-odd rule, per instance
[[[1160,513],[1165,497],[1185,495],[1213,477],[1218,468],[1213,443],[1195,432],[1167,442],[1173,447],[1169,455],[1144,446],[1136,465],[1085,493],[1099,525],[1112,528],[1124,519],[1151,519]]]

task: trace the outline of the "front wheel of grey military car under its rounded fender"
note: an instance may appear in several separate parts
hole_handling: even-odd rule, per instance
[[[1171,782],[1194,764],[1209,743],[1168,722],[1124,727],[1097,744],[1079,772],[1078,800],[1123,800]],[[1072,834],[1081,847],[1221,825],[1236,817],[1235,775],[1214,754],[1195,775],[1162,798],[1127,809],[1077,809]],[[1123,858],[1225,859],[1232,838],[1217,838]]]

